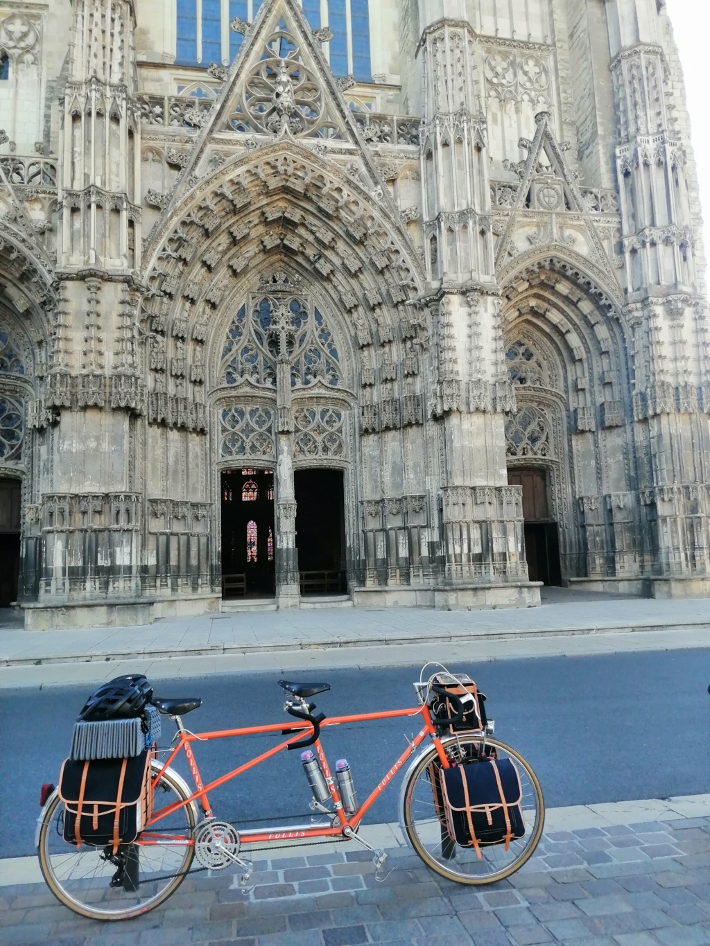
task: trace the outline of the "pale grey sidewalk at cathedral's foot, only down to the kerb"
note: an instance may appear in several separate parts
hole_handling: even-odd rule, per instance
[[[560,634],[710,630],[710,598],[655,601],[569,592],[535,608],[435,611],[429,608],[324,608],[201,615],[141,627],[61,631],[0,630],[0,664],[105,661],[125,657],[215,656],[278,650],[384,647]],[[710,639],[710,635],[708,636]]]

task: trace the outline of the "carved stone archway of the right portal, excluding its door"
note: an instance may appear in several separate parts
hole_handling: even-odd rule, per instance
[[[627,325],[588,272],[557,257],[528,262],[504,297],[518,404],[506,431],[516,441],[508,440],[508,464],[546,470],[563,581],[633,573],[639,514]],[[617,494],[626,497],[623,513],[607,499]]]

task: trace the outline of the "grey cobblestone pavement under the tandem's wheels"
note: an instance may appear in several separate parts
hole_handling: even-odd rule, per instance
[[[256,864],[247,895],[234,875],[197,873],[169,902],[117,926],[80,920],[42,885],[0,888],[0,941],[62,946],[703,946],[710,943],[710,817],[543,835],[508,881],[443,881],[406,848],[383,882],[366,851]],[[304,852],[305,851],[305,852]],[[283,852],[282,852],[283,853]]]

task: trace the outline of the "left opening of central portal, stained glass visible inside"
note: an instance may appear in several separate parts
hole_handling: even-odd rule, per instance
[[[275,594],[274,470],[222,470],[222,598]]]

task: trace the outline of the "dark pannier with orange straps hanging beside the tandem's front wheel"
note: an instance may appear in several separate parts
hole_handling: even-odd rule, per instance
[[[481,759],[438,770],[449,837],[463,848],[505,844],[524,836],[523,789],[509,759]]]

